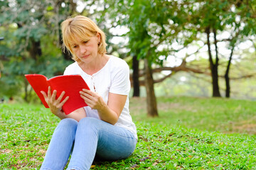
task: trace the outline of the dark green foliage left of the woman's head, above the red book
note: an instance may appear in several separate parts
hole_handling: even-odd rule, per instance
[[[24,74],[63,73],[60,22],[72,11],[68,1],[0,1],[1,98],[29,99]],[[26,93],[26,94],[24,94]]]

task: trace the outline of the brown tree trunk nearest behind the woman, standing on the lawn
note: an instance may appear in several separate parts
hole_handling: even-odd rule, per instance
[[[144,59],[145,69],[145,86],[146,86],[146,109],[149,117],[159,116],[156,106],[156,96],[154,94],[154,79],[152,76],[152,69],[149,65],[149,61]]]

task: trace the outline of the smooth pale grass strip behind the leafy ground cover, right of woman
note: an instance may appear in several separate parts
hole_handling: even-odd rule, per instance
[[[132,98],[136,120],[219,132],[256,134],[255,101],[225,98],[158,98],[159,118],[146,116],[146,100]]]

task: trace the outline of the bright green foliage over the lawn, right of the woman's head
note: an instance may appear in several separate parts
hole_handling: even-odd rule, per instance
[[[193,58],[198,52],[207,48],[206,30],[209,29],[210,64],[208,65],[209,68],[217,67],[215,69],[217,78],[212,82],[216,84],[214,86],[218,86],[218,76],[222,76],[218,75],[218,69],[221,71],[229,69],[230,67],[227,67],[229,60],[237,58],[243,60],[238,55],[238,52],[242,51],[238,46],[250,38],[255,39],[256,26],[253,26],[255,1],[106,2],[110,4],[109,13],[113,26],[129,28],[129,31],[123,35],[129,38],[127,44],[129,55],[137,56],[138,59],[146,58],[151,64],[163,66],[164,61],[171,57],[178,61],[191,62],[191,59],[187,60],[189,55],[195,52],[196,54],[191,57]],[[216,41],[214,41],[214,33],[217,35]],[[233,48],[235,55],[229,59]],[[203,55],[208,55],[206,51],[203,52]],[[222,64],[219,64],[219,59]],[[201,66],[197,67],[191,63],[188,63],[188,66],[201,70]],[[243,74],[246,76],[247,72]]]

